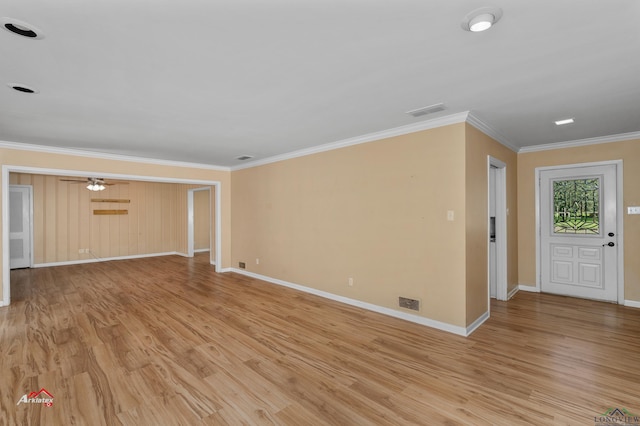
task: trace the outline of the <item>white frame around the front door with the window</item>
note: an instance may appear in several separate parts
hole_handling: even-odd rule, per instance
[[[542,224],[540,223],[542,203],[540,201],[540,172],[548,170],[568,170],[591,166],[615,166],[616,168],[616,228],[618,247],[618,304],[624,305],[624,203],[622,190],[622,160],[597,161],[592,163],[563,164],[558,166],[536,167],[535,169],[535,214],[536,214],[536,290],[542,289]]]

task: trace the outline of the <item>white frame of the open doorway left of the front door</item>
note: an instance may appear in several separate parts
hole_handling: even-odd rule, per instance
[[[487,156],[487,299],[488,307],[491,307],[491,242],[490,242],[490,217],[491,206],[489,198],[491,193],[491,168],[496,171],[495,179],[495,204],[496,204],[496,300],[508,300],[507,294],[507,164],[490,155]]]

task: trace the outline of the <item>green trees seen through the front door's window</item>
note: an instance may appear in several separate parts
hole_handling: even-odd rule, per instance
[[[553,182],[553,232],[600,233],[600,179]]]

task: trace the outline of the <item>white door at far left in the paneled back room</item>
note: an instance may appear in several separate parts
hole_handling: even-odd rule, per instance
[[[9,186],[9,264],[31,266],[31,187]]]

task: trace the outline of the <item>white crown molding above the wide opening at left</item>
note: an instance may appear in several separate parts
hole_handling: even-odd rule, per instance
[[[186,161],[159,160],[155,158],[133,157],[122,154],[107,154],[103,152],[84,151],[73,148],[59,148],[28,143],[0,141],[0,148],[16,149],[20,151],[44,152],[48,154],[74,155],[77,157],[99,158],[104,160],[129,161],[133,163],[155,164],[158,166],[187,167],[192,169],[216,170],[221,172],[231,171],[229,167],[212,166],[210,164],[189,163]]]

